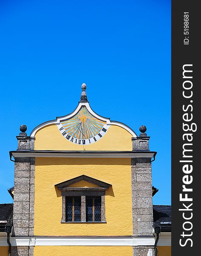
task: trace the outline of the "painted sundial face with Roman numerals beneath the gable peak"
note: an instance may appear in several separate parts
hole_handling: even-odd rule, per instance
[[[58,128],[66,140],[78,145],[89,145],[106,134],[108,125],[92,116],[83,105],[75,116],[60,122]]]

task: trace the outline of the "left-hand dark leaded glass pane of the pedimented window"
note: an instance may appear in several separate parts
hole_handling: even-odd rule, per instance
[[[66,221],[81,221],[80,197],[66,197]]]

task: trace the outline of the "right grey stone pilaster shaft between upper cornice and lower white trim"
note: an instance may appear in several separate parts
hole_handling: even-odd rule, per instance
[[[153,235],[151,158],[132,158],[133,236]]]

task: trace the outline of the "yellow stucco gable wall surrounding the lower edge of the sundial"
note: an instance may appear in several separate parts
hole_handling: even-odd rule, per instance
[[[57,125],[48,125],[35,134],[35,150],[132,150],[132,134],[117,125],[111,125],[106,134],[90,145],[77,145],[69,142],[60,133]]]

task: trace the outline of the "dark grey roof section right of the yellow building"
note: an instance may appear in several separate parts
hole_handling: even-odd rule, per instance
[[[171,205],[153,205],[153,218],[155,224],[161,227],[161,232],[171,232],[171,224],[161,224],[171,222]]]

